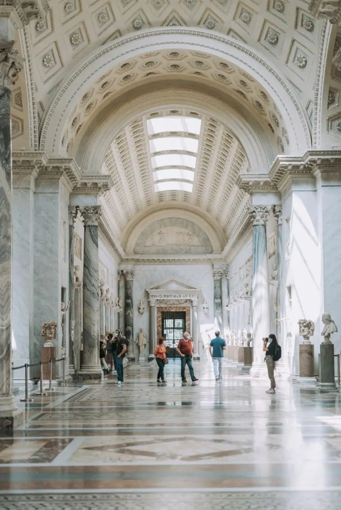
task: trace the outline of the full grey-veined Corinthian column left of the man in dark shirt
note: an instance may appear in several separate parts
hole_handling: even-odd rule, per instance
[[[98,239],[101,206],[81,207],[80,212],[84,219],[83,363],[78,375],[83,379],[101,379]]]

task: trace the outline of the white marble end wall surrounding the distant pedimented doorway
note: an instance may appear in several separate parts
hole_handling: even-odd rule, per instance
[[[199,323],[199,353],[202,350],[202,342],[207,342],[207,333],[214,335],[214,310],[213,310],[213,277],[211,264],[188,264],[188,265],[135,265],[133,282],[134,303],[134,341],[140,328],[144,329],[149,339],[149,304],[148,293],[145,289],[160,284],[167,278],[178,278],[182,282],[201,289],[198,302]],[[137,305],[144,300],[144,314],[138,313]],[[203,313],[203,303],[209,305],[208,313]],[[135,355],[137,349],[135,348]]]

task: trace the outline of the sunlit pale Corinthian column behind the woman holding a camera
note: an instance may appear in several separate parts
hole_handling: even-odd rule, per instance
[[[269,208],[252,206],[252,329],[253,377],[267,376],[262,338],[270,333],[269,277],[267,275],[266,222]]]

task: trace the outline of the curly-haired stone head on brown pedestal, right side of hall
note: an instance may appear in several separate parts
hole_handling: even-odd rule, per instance
[[[313,336],[315,330],[314,321],[309,319],[300,319],[298,321],[299,335],[303,338],[303,343],[300,344],[300,376],[297,382],[315,384],[314,377],[314,346],[310,342],[310,337]]]

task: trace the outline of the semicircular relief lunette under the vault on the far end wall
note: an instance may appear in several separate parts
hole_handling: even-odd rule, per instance
[[[164,218],[144,228],[134,246],[139,254],[212,253],[211,242],[196,223],[183,218]]]

